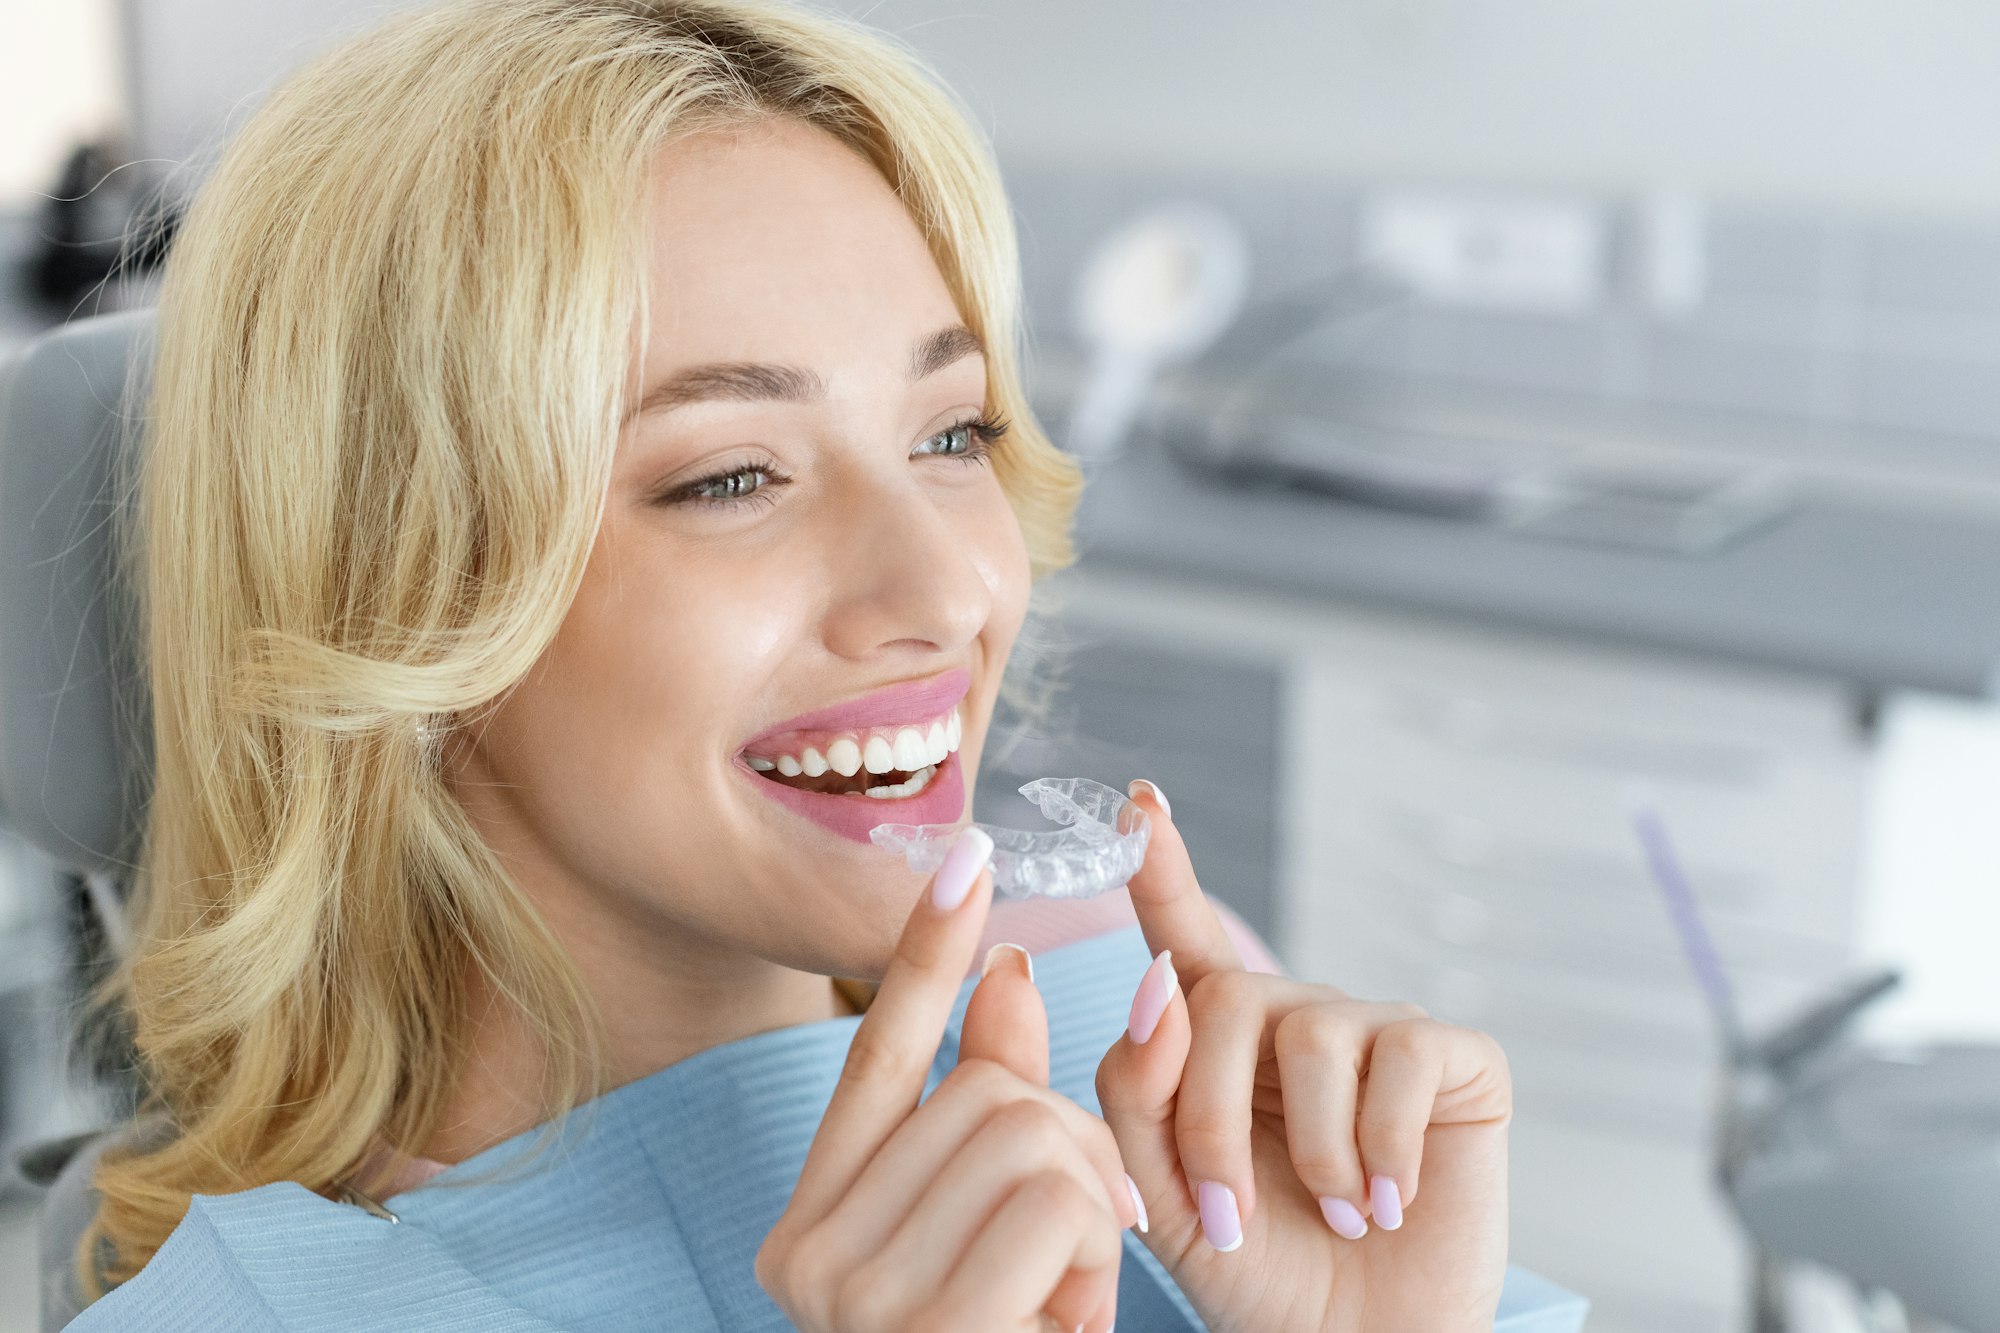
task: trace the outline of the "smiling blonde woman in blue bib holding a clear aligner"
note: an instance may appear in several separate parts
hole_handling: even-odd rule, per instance
[[[468,0],[266,102],[160,302],[76,1327],[1492,1327],[1490,1039],[1246,971],[1150,785],[1048,1013],[980,945],[1092,909],[866,841],[966,815],[1070,560],[1016,340],[986,146],[846,22]]]

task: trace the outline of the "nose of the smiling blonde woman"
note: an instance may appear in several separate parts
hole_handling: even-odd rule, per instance
[[[986,508],[952,506],[916,482],[852,484],[822,546],[828,648],[862,660],[896,644],[950,652],[978,636],[998,576]]]

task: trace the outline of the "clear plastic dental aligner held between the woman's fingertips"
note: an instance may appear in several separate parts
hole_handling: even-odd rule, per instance
[[[1034,779],[1020,787],[1064,829],[978,827],[994,841],[994,891],[1010,899],[1090,899],[1118,889],[1146,861],[1152,821],[1116,787],[1090,779]],[[974,821],[976,823],[976,821]],[[934,873],[964,825],[876,825],[868,839]]]

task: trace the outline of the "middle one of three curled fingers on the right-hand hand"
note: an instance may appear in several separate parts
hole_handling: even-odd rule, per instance
[[[1350,1241],[1368,1233],[1368,1177],[1356,1139],[1368,1051],[1378,1031],[1422,1015],[1414,1005],[1340,999],[1300,1005],[1272,1029],[1292,1169],[1320,1201],[1326,1225]]]

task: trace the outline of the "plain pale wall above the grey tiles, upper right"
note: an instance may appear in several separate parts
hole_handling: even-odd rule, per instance
[[[1002,150],[2000,216],[1992,0],[832,0]]]

